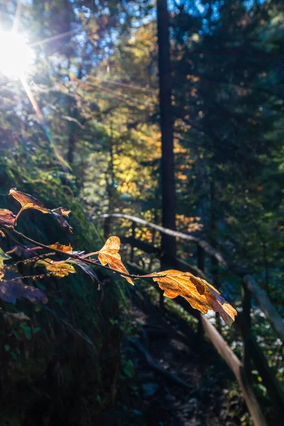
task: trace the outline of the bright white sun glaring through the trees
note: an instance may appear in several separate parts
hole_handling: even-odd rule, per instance
[[[25,77],[33,65],[34,53],[24,35],[0,30],[0,73],[16,79]]]

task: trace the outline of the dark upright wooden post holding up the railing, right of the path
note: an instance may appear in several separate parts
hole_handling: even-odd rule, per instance
[[[251,334],[251,291],[247,288],[244,280],[242,281],[242,305],[243,305],[243,365],[246,378],[251,380],[251,354],[249,350],[249,337]]]

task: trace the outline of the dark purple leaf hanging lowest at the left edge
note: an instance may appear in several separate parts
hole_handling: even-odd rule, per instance
[[[26,298],[33,303],[47,303],[48,297],[38,288],[26,285],[20,275],[6,273],[4,281],[0,283],[0,299],[15,303],[16,299]]]

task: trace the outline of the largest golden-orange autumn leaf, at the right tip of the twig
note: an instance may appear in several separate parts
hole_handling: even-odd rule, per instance
[[[174,299],[177,296],[185,297],[190,305],[203,314],[208,310],[219,312],[224,322],[229,326],[234,321],[237,314],[234,307],[229,305],[219,291],[213,285],[197,278],[190,272],[182,273],[180,271],[169,270],[146,275],[161,275],[153,280],[164,290],[164,295]],[[163,276],[164,275],[164,276]]]

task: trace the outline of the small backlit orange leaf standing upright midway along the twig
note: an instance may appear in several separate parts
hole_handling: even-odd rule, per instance
[[[119,254],[120,249],[120,239],[118,236],[110,236],[107,239],[104,247],[97,251],[94,254],[99,254],[99,261],[102,265],[109,264],[109,268],[115,269],[115,271],[128,273],[126,267],[121,262],[121,257]],[[124,277],[124,275],[121,275]],[[133,280],[130,277],[124,277],[130,284],[134,285]]]

